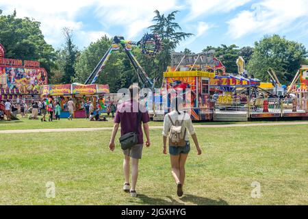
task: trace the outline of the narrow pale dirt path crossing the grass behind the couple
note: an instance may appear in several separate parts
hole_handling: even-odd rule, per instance
[[[274,126],[274,125],[308,125],[308,122],[290,122],[290,123],[247,123],[230,125],[194,125],[195,128],[224,128],[224,127],[253,127],[253,126]],[[151,126],[150,129],[162,129],[162,126]],[[0,133],[38,133],[38,132],[76,132],[76,131],[111,131],[112,127],[101,128],[73,128],[73,129],[18,129],[2,130]]]

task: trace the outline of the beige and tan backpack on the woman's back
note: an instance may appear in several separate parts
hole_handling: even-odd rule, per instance
[[[184,113],[185,116],[185,113]],[[186,128],[183,132],[183,122],[184,119],[181,120],[181,123],[179,120],[175,120],[175,123],[173,123],[171,117],[168,115],[171,127],[169,131],[169,145],[170,146],[186,146],[185,136],[186,136]]]

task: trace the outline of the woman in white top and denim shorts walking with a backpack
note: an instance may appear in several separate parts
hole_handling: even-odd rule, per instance
[[[177,195],[183,195],[183,185],[185,181],[185,162],[190,152],[190,141],[187,129],[194,140],[198,155],[201,149],[196,138],[192,119],[189,114],[183,112],[183,99],[179,96],[172,100],[172,112],[166,114],[164,118],[163,153],[167,154],[166,142],[169,136],[169,153],[172,176],[177,183]]]

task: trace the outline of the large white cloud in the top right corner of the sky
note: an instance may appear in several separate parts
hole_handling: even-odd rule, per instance
[[[231,19],[228,35],[236,39],[248,34],[286,32],[299,18],[308,17],[307,8],[307,0],[263,0]]]

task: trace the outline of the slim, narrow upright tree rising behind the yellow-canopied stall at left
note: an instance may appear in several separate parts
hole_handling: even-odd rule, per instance
[[[64,57],[64,75],[62,78],[62,83],[71,83],[72,78],[75,77],[74,64],[77,58],[78,49],[73,43],[73,30],[64,27],[63,35],[65,38],[65,45],[63,49]]]

